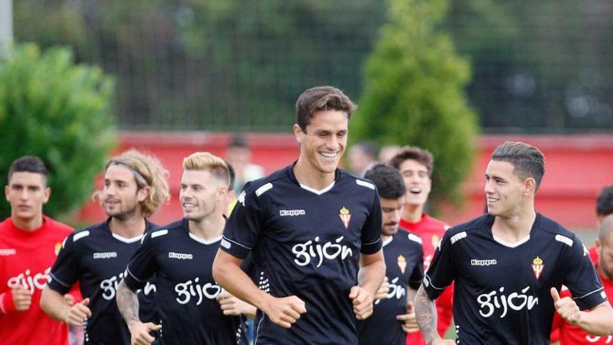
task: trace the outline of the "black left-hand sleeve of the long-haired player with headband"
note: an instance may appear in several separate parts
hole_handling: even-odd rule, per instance
[[[78,256],[75,254],[75,234],[80,233],[71,233],[64,239],[58,257],[51,268],[51,273],[49,273],[47,286],[62,295],[68,293],[79,280]]]

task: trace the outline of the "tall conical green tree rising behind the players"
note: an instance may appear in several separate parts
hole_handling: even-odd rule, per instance
[[[353,141],[431,151],[434,211],[443,200],[459,200],[478,132],[464,92],[469,63],[440,29],[447,7],[448,0],[391,0],[388,22],[366,62],[364,93],[350,128]]]

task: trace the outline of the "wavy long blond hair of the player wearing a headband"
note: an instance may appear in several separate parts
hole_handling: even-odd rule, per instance
[[[111,158],[104,165],[104,171],[107,171],[111,165],[118,165],[132,171],[139,189],[149,187],[147,199],[141,202],[141,209],[145,217],[151,217],[160,206],[170,200],[170,189],[167,181],[169,173],[154,155],[147,155],[131,148]],[[100,198],[101,195],[102,191],[98,190],[94,192],[93,198]]]

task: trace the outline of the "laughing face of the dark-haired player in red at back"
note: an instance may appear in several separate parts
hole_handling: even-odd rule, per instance
[[[407,187],[406,203],[421,206],[428,201],[432,189],[432,180],[428,175],[428,168],[417,160],[405,160],[398,167]]]

